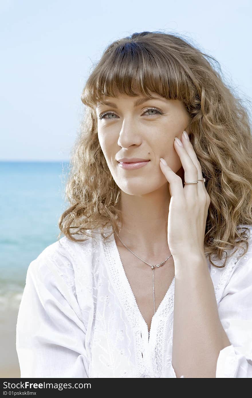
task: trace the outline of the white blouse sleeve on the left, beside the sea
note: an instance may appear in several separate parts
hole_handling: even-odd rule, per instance
[[[58,271],[50,268],[40,255],[27,270],[16,325],[21,378],[85,378],[88,356],[81,310]]]

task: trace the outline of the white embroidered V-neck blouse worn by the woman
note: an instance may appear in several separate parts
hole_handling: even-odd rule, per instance
[[[219,353],[216,377],[252,377],[252,226],[248,228],[245,256],[237,259],[239,249],[219,269],[207,260],[231,342]],[[64,236],[31,261],[16,326],[21,378],[176,377],[175,277],[148,336],[114,235],[107,242],[99,233],[95,236],[77,243]],[[223,261],[213,258],[217,265]]]

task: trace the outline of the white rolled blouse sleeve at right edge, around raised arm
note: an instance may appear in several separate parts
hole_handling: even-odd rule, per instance
[[[216,377],[252,377],[252,248],[240,258],[218,305],[231,342],[217,360]]]

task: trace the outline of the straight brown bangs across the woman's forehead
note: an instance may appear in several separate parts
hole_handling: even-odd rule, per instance
[[[95,108],[104,97],[119,94],[152,97],[159,94],[168,100],[187,98],[188,76],[177,57],[145,41],[120,42],[108,48],[89,76],[82,92],[82,102]]]

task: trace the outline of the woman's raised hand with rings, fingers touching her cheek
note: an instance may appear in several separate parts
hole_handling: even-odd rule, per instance
[[[181,139],[183,146],[175,139],[174,147],[184,168],[185,181],[203,179],[201,165],[189,137],[186,139],[183,132]],[[188,254],[202,255],[207,212],[211,202],[205,183],[198,181],[197,184],[185,184],[183,188],[182,179],[169,166],[162,164],[161,160],[160,168],[169,183],[171,196],[167,231],[169,250],[174,260],[185,259]]]

